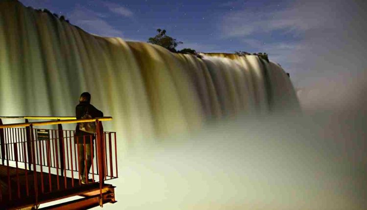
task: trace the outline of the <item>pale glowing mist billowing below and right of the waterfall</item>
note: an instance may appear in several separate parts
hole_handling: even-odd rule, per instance
[[[315,84],[298,94],[301,116],[243,116],[141,146],[121,160],[118,202],[104,208],[362,210],[366,78]]]

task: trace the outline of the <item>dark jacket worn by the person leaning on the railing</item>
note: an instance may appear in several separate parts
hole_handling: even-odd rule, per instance
[[[103,112],[95,108],[93,105],[89,104],[88,102],[81,102],[75,107],[75,116],[76,119],[82,119],[82,116],[87,112],[88,107],[88,113],[92,116],[92,118],[96,117],[103,117]],[[90,135],[93,135],[91,133],[84,132],[82,130],[79,130],[79,123],[76,124],[75,127],[75,135],[74,137],[78,137],[78,141],[75,139],[75,144],[83,144],[83,136],[86,135],[86,144],[91,144]],[[94,135],[92,136],[92,142],[94,140]]]

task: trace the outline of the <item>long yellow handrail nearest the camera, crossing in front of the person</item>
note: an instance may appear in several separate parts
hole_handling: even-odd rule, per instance
[[[57,125],[57,124],[70,124],[70,123],[87,123],[94,122],[95,120],[99,121],[110,121],[112,117],[97,117],[94,119],[83,119],[83,120],[57,120],[57,121],[45,121],[45,122],[34,122],[34,123],[14,123],[14,124],[5,124],[0,125],[0,128],[6,127],[25,127],[25,126],[46,126],[46,125]]]

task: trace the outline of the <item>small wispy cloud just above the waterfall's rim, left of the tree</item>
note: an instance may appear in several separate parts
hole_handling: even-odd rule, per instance
[[[123,32],[110,25],[104,14],[77,5],[70,14],[70,21],[89,33],[99,36],[122,37]]]

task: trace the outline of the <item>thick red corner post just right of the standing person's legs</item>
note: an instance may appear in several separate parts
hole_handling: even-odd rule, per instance
[[[98,173],[99,173],[99,196],[100,202],[99,205],[102,207],[102,186],[104,185],[104,176],[105,176],[105,164],[104,164],[104,155],[103,155],[103,127],[102,123],[99,120],[95,120],[96,125],[96,140],[97,140],[97,162],[98,162]]]

